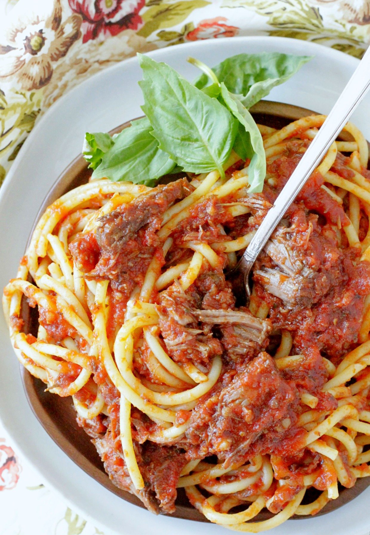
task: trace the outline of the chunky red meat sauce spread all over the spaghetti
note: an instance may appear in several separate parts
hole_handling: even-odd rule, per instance
[[[237,218],[230,216],[225,205],[235,201],[232,195],[221,201],[210,195],[192,207],[189,216],[171,234],[173,246],[166,256],[166,268],[191,257],[192,253],[186,248],[189,241],[212,244],[236,239],[256,230],[308,146],[308,140],[291,141],[284,154],[268,164],[267,174],[275,181],[272,185],[266,184],[263,193],[243,200],[250,207],[250,213]],[[345,179],[352,178],[354,173],[346,167],[348,163],[348,158],[338,155],[333,171]],[[228,173],[235,172],[242,165],[243,162],[237,162]],[[366,177],[370,179],[370,173]],[[140,410],[132,408],[135,456],[145,480],[144,490],[137,494],[156,512],[158,502],[153,503],[154,495],[160,507],[166,512],[173,511],[176,484],[186,461],[210,455],[217,455],[226,467],[233,468],[240,467],[258,454],[270,455],[274,477],[282,482],[274,482],[265,495],[266,499],[271,499],[268,508],[273,513],[283,509],[303,488],[305,474],[314,474],[313,486],[318,490],[324,490],[336,479],[333,463],[304,447],[306,431],[297,422],[299,415],[309,408],[300,398],[302,393],[308,392],[317,396],[317,410],[334,411],[337,408],[333,396],[321,391],[328,380],[322,357],[338,364],[349,350],[356,347],[364,297],[370,294],[370,263],[359,262],[360,251],[348,246],[343,231],[343,227],[349,224],[346,206],[338,204],[321,188],[323,182],[324,178],[318,172],[312,174],[284,216],[279,227],[281,233],[276,233],[274,238],[286,247],[291,264],[289,269],[294,272],[294,277],[300,277],[301,272],[309,273],[299,279],[297,297],[288,296],[291,301],[287,301],[284,295],[275,295],[273,288],[268,289],[264,285],[262,277],[253,274],[256,302],[266,303],[269,308],[269,318],[261,327],[261,331],[265,329],[261,339],[253,327],[248,326],[250,344],[242,347],[241,340],[246,337],[243,328],[247,328],[244,325],[248,322],[222,323],[222,313],[248,312],[243,307],[236,309],[237,296],[233,295],[222,272],[227,262],[226,255],[216,268],[204,262],[197,280],[186,291],[173,284],[165,292],[153,292],[151,301],[156,303],[159,314],[160,343],[175,362],[195,363],[206,372],[215,355],[222,357],[221,376],[211,391],[198,400],[195,409],[176,412],[176,425],[189,424],[177,444],[153,444],[149,437],[158,431],[158,425]],[[122,213],[108,215],[99,239],[94,233],[81,234],[70,245],[72,256],[84,276],[110,281],[107,292],[107,337],[110,342],[124,323],[130,292],[135,285],[143,284],[152,258],[157,258],[161,268],[165,265],[163,242],[158,239],[156,231],[163,211],[173,198],[179,200],[183,197],[166,197],[166,200],[161,199],[158,192],[153,192],[147,206],[143,199],[135,204],[136,213],[132,205],[127,210],[122,208]],[[146,213],[151,209],[153,217]],[[114,229],[115,216],[121,221],[118,231]],[[337,233],[333,225],[338,226]],[[110,233],[112,229],[118,232],[117,239],[114,233]],[[360,238],[364,239],[367,232],[367,218],[362,217]],[[117,243],[121,245],[118,247]],[[297,264],[299,270],[294,271]],[[261,254],[255,265],[255,273],[279,269],[283,269],[279,262],[267,253]],[[284,272],[283,276],[289,279],[291,274]],[[307,280],[312,284],[306,284]],[[292,288],[293,293],[293,285]],[[29,299],[30,304],[35,305],[32,295]],[[48,337],[56,342],[67,336],[76,337],[73,327],[58,311],[52,295],[50,302],[47,310],[39,307],[40,324],[47,330]],[[207,323],[205,311],[215,314],[214,323]],[[203,313],[202,319],[199,319],[199,312]],[[17,324],[21,320],[11,318],[11,321],[21,327],[20,323]],[[300,354],[302,358],[298,363],[279,370],[271,355],[279,345],[282,329],[288,330],[292,336],[290,354]],[[27,340],[33,343],[35,338],[28,335]],[[135,375],[158,384],[150,370],[151,351],[147,344],[143,340],[135,340],[134,351]],[[136,492],[128,477],[120,441],[120,393],[104,366],[95,360],[92,364],[94,381],[103,395],[109,416],[91,420],[79,418],[79,425],[96,438],[105,468],[114,482],[121,488]],[[78,365],[60,363],[56,385],[67,388],[80,371]],[[359,378],[362,376],[359,375]],[[76,397],[90,404],[95,399],[95,392],[86,385]],[[364,407],[367,407],[365,399]],[[341,450],[340,455],[346,467],[348,459],[345,452]],[[245,473],[247,476],[248,473]],[[348,476],[351,485],[354,478],[349,471]],[[236,478],[235,475],[226,475],[220,478],[220,482],[228,483]],[[259,479],[239,497],[248,498],[262,484]]]

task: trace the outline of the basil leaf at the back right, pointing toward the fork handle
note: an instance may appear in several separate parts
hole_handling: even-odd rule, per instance
[[[237,94],[245,108],[251,108],[268,95],[275,86],[288,80],[312,56],[295,56],[279,52],[237,54],[225,59],[212,68],[220,82],[231,93]],[[198,89],[204,89],[209,77],[202,74],[195,82]]]

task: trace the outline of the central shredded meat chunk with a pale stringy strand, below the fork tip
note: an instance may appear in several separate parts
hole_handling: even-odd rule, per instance
[[[268,343],[269,321],[246,308],[225,309],[234,305],[234,297],[223,274],[208,273],[203,280],[204,286],[197,285],[203,295],[196,287],[182,292],[176,284],[159,295],[159,326],[168,353],[175,361],[199,364],[222,353],[229,358],[256,356]]]

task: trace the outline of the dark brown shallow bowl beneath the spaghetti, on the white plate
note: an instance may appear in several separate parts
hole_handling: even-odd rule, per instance
[[[298,108],[289,104],[282,104],[279,102],[261,101],[251,109],[252,115],[257,123],[266,126],[273,126],[275,128],[282,128],[292,120],[300,117],[305,117],[312,114],[310,110]],[[122,129],[130,126],[130,123],[125,123],[114,130],[111,134],[120,132]],[[351,136],[343,133],[341,139],[351,140]],[[44,199],[40,211],[36,217],[34,227],[40,219],[45,209],[54,202],[58,197],[71,189],[86,184],[91,175],[91,170],[87,169],[87,163],[82,156],[76,157],[73,162],[66,167],[58,179],[51,187],[47,197]],[[177,178],[176,175],[172,175]],[[168,176],[166,181],[172,178]],[[32,232],[30,235],[32,235]],[[37,325],[37,318],[32,314],[34,309],[23,307],[23,318],[25,320],[26,332],[34,331]],[[92,445],[88,435],[76,423],[76,413],[71,403],[70,398],[60,398],[58,395],[45,392],[45,385],[40,379],[36,379],[21,366],[21,376],[24,384],[28,402],[41,425],[50,437],[63,449],[64,453],[68,455],[82,470],[89,474],[92,478],[101,483],[107,490],[121,496],[124,500],[134,503],[139,507],[144,507],[143,503],[133,494],[120,490],[120,488],[113,485],[109,477],[104,471],[103,463]],[[370,484],[370,478],[360,478],[356,485],[352,488],[341,488],[339,498],[329,501],[318,515],[329,513],[345,503],[356,498],[365,488]],[[315,496],[312,496],[312,500]],[[176,500],[175,517],[186,518],[189,520],[197,520],[201,522],[208,522],[207,519],[194,509],[184,493],[183,489],[179,490],[178,499]],[[265,520],[273,516],[269,511],[263,510],[253,520]],[[307,518],[306,516],[296,516],[296,519]],[[310,518],[310,517],[308,517]]]

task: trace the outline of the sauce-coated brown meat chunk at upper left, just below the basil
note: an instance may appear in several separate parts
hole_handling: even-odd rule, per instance
[[[163,261],[156,231],[164,212],[190,192],[185,179],[157,186],[102,216],[96,232],[77,236],[69,247],[84,277],[109,279],[126,295],[141,285],[153,256]]]

